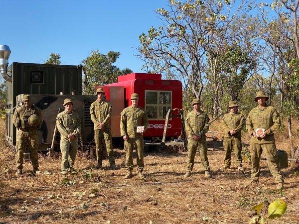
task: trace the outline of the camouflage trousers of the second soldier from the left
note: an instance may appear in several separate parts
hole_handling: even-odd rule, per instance
[[[61,174],[72,171],[78,150],[78,141],[61,141]]]

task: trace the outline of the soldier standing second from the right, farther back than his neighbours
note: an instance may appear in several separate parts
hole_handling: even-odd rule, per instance
[[[228,105],[230,113],[226,113],[222,118],[224,126],[224,140],[223,146],[225,151],[224,167],[222,169],[229,169],[231,165],[231,153],[234,149],[236,165],[239,171],[243,171],[242,168],[242,141],[241,131],[245,126],[245,117],[242,113],[237,112],[238,104],[235,101],[231,101]]]

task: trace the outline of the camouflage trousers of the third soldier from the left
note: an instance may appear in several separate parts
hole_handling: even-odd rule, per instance
[[[96,142],[96,155],[98,163],[102,163],[102,139],[104,137],[106,143],[107,154],[109,156],[110,166],[115,164],[114,150],[112,147],[112,135],[111,128],[105,128],[104,130],[95,130],[95,142]]]

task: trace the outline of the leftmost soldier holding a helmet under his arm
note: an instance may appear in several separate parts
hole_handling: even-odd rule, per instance
[[[42,124],[41,110],[31,105],[29,95],[23,96],[23,105],[17,108],[13,114],[12,122],[17,128],[16,139],[16,175],[22,174],[24,151],[28,142],[30,148],[30,157],[33,165],[33,172],[40,173],[38,169],[38,136],[37,129]]]

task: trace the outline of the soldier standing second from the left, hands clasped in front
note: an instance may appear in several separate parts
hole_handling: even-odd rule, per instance
[[[81,120],[78,113],[72,111],[72,99],[65,99],[65,110],[56,117],[57,129],[60,132],[61,175],[73,171],[78,150],[78,134],[81,129]]]

